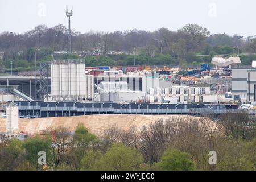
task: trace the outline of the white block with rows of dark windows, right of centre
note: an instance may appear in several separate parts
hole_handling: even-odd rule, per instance
[[[218,96],[210,94],[209,87],[174,85],[171,88],[146,89],[146,102],[162,103],[168,97],[176,97],[179,103],[218,102]]]

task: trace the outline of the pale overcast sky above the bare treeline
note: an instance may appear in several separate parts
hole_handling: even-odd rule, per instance
[[[0,32],[26,32],[39,24],[67,26],[67,6],[73,7],[72,29],[80,32],[176,31],[197,23],[211,34],[256,35],[255,0],[0,0]]]

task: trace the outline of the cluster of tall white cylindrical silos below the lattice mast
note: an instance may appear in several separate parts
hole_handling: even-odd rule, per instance
[[[93,76],[85,75],[85,64],[77,61],[55,61],[51,65],[52,96],[55,100],[93,98]]]

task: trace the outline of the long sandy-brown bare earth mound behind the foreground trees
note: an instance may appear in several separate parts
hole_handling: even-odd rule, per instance
[[[135,126],[138,130],[142,126],[149,125],[158,119],[168,119],[170,117],[185,117],[187,115],[82,115],[75,117],[52,117],[37,119],[19,119],[19,131],[29,133],[39,133],[47,128],[55,129],[56,127],[66,127],[70,131],[75,131],[79,123],[83,123],[94,134],[101,134],[109,126],[116,125],[121,130],[129,130]],[[6,130],[6,119],[0,119],[0,131]]]

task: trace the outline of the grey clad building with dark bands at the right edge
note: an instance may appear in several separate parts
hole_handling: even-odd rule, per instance
[[[232,69],[232,98],[235,101],[256,101],[256,69]]]

